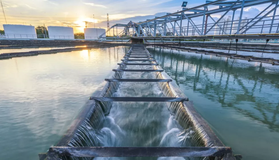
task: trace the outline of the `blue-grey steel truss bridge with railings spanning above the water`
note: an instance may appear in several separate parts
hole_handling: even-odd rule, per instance
[[[244,8],[263,4],[267,7],[254,18],[242,16]],[[278,0],[206,1],[203,5],[143,22],[115,24],[106,31],[113,32],[113,37],[106,37],[104,33],[99,39],[143,39],[145,42],[147,39],[279,39],[279,24],[274,23],[279,20],[276,15],[278,7]],[[237,9],[240,9],[240,15],[236,14],[238,18],[235,15]],[[225,20],[229,11],[232,16]],[[222,15],[216,21],[214,14]]]

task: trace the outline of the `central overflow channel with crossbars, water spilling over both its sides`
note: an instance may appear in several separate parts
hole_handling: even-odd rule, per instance
[[[215,135],[144,45],[132,45],[118,65],[60,141],[39,154],[40,160],[241,159]]]

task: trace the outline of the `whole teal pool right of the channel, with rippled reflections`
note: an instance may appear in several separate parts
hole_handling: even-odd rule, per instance
[[[149,51],[235,154],[278,159],[279,66],[154,47]]]

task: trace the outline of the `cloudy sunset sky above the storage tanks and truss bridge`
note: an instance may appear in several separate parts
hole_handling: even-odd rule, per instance
[[[83,32],[84,21],[88,21],[87,27],[95,25],[107,29],[107,13],[111,27],[115,23],[144,21],[180,11],[182,2],[180,0],[2,0],[7,24],[70,26],[74,28],[75,33]],[[188,0],[187,7],[204,3],[205,0]],[[266,6],[268,4],[245,8],[243,16],[252,18]],[[236,17],[239,13],[240,9],[236,11]],[[232,11],[227,15],[232,15]],[[211,16],[217,20],[221,17],[221,13]],[[202,19],[193,21],[201,23]],[[6,22],[1,12],[0,22],[0,29],[3,29],[2,25]]]

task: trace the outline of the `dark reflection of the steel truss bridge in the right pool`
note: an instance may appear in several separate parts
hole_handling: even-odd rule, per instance
[[[161,48],[149,51],[178,85],[191,87],[222,107],[233,108],[279,132],[279,102],[276,94],[270,93],[279,92],[278,73],[266,71],[268,68],[262,65],[241,65],[220,57],[209,59],[209,55],[184,55]]]

